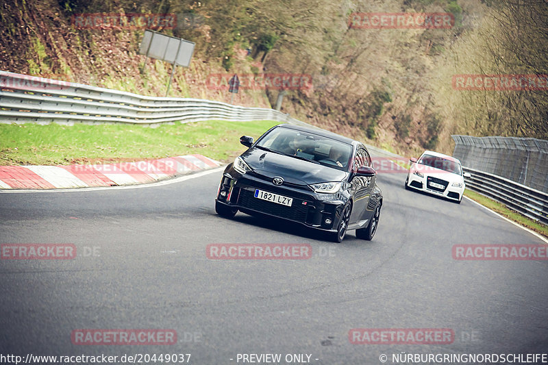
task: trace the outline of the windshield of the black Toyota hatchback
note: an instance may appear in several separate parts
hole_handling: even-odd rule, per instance
[[[258,147],[347,171],[351,144],[305,131],[277,127],[263,136]]]

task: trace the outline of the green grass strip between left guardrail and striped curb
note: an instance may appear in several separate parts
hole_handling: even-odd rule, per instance
[[[226,162],[245,150],[242,134],[258,138],[274,121],[207,121],[140,125],[0,125],[0,165],[136,161],[201,153]]]

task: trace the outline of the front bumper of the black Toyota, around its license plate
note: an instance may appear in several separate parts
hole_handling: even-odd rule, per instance
[[[258,199],[254,196],[256,189],[290,197],[292,205]],[[234,171],[223,174],[216,201],[237,207],[246,214],[264,214],[331,232],[336,232],[346,203],[338,194],[316,194],[302,187],[275,186],[271,181],[249,173],[234,174]]]

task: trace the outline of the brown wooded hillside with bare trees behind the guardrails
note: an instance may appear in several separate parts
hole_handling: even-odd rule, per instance
[[[356,13],[451,13],[449,29],[362,29]],[[171,65],[138,55],[142,29],[79,29],[82,13],[179,15],[196,43],[171,96],[229,101],[208,75],[306,74],[282,112],[400,153],[451,134],[548,138],[548,91],[457,90],[454,75],[548,74],[543,0],[14,0],[0,5],[0,69],[164,96]],[[234,102],[273,107],[276,88]]]

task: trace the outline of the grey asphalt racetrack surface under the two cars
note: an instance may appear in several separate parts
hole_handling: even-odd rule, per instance
[[[543,241],[471,201],[410,192],[405,175],[379,175],[374,240],[351,232],[334,244],[280,221],[217,216],[220,177],[1,193],[1,243],[72,243],[78,255],[0,260],[0,354],[190,353],[200,365],[242,364],[238,353],[302,353],[311,364],[382,364],[386,354],[393,364],[402,352],[547,352],[548,262],[451,255],[454,244]],[[212,243],[307,243],[312,258],[208,260]],[[455,336],[451,344],[351,344],[353,328]],[[75,329],[173,329],[178,339],[86,346],[71,342]]]

